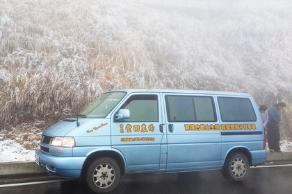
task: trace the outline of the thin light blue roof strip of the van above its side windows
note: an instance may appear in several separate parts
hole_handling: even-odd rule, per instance
[[[115,89],[113,91],[126,91],[127,93],[133,92],[161,92],[161,93],[174,93],[174,94],[215,94],[215,95],[229,95],[229,96],[251,96],[247,93],[238,93],[231,91],[209,91],[209,90],[187,90],[187,89]]]

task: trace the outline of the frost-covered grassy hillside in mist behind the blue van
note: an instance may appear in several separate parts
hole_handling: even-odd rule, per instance
[[[0,151],[35,150],[47,126],[119,88],[283,100],[281,135],[292,141],[291,10],[245,1],[197,19],[122,0],[0,0]]]

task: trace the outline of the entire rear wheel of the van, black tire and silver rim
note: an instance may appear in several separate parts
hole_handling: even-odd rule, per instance
[[[250,162],[243,153],[234,152],[227,157],[221,172],[230,182],[243,182],[250,173]]]

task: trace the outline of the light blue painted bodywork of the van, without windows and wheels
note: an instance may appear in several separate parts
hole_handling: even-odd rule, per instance
[[[105,118],[79,118],[79,125],[76,118],[66,118],[42,133],[49,138],[73,137],[75,141],[72,148],[63,148],[42,140],[40,150],[35,152],[42,170],[59,177],[78,178],[86,159],[98,152],[118,155],[123,161],[120,165],[124,165],[124,173],[220,170],[227,156],[234,150],[245,150],[251,166],[266,162],[261,116],[249,94],[171,89],[115,91],[125,91],[127,95]],[[158,108],[149,114],[157,114],[158,119],[115,121],[118,110],[124,109],[122,105],[127,104],[131,97],[139,95],[155,96]],[[168,96],[208,97],[213,100],[215,119],[211,122],[170,119],[166,100]],[[256,121],[224,121],[218,103],[220,97],[249,99]]]

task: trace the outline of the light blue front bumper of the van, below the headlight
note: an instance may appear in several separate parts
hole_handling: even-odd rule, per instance
[[[79,178],[86,157],[56,157],[35,151],[35,161],[44,172],[58,177]]]

